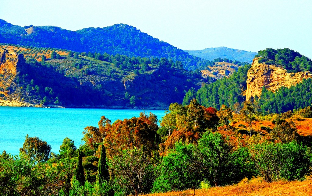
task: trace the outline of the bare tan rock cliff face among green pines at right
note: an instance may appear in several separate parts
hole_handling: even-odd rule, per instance
[[[275,92],[280,87],[293,86],[301,82],[304,78],[312,78],[308,71],[298,73],[287,73],[286,69],[276,65],[266,65],[258,63],[259,58],[252,61],[251,68],[247,73],[246,100],[257,95],[260,97],[262,87]]]

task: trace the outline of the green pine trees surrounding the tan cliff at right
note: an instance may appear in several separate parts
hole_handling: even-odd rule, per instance
[[[260,57],[259,63],[282,66],[288,72],[311,71],[312,61],[288,48],[260,50],[256,57]],[[247,71],[250,66],[245,65],[229,78],[204,85],[198,91],[189,89],[183,99],[183,104],[188,104],[192,98],[196,97],[197,101],[206,107],[218,109],[225,104],[232,109],[240,108],[246,100],[243,93],[246,90]],[[295,86],[282,87],[275,93],[263,88],[261,96],[255,98],[255,104],[259,106],[259,112],[264,114],[292,111],[311,105],[310,92],[311,79],[304,79]]]

